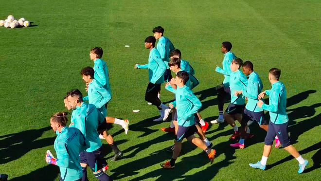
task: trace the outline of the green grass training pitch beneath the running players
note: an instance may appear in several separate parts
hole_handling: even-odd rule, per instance
[[[77,88],[85,94],[80,70],[93,66],[89,51],[101,46],[113,96],[108,115],[130,120],[128,135],[118,125],[109,130],[123,159],[111,162],[110,146],[103,141],[114,180],[320,180],[320,9],[320,0],[1,1],[0,19],[24,17],[33,26],[0,27],[0,173],[10,181],[58,181],[58,167],[44,159],[48,149],[55,155],[50,116],[66,111],[67,91]],[[291,142],[310,162],[305,173],[298,175],[298,162],[276,148],[267,170],[251,168],[249,163],[261,160],[266,132],[253,125],[255,136],[246,149],[234,150],[229,146],[232,128],[226,124],[212,125],[206,134],[216,149],[214,164],[184,142],[176,167],[161,169],[159,163],[171,158],[164,148],[174,136],[160,130],[169,122],[153,123],[159,113],[144,101],[147,71],[134,70],[136,63],[147,62],[144,39],[156,26],[164,27],[164,36],[195,68],[200,85],[193,91],[203,103],[206,121],[218,116],[214,86],[223,76],[214,68],[222,63],[223,41],[231,41],[233,53],[254,63],[264,89],[271,88],[268,70],[281,69]],[[162,89],[163,102],[172,98]],[[95,181],[91,171],[89,180]]]

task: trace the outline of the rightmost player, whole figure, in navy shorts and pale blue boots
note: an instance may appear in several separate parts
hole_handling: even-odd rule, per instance
[[[265,90],[258,96],[259,102],[257,103],[257,106],[269,111],[270,122],[268,124],[267,136],[265,137],[264,141],[262,160],[261,162],[250,163],[250,166],[265,170],[267,157],[271,152],[274,137],[278,136],[282,147],[299,162],[298,173],[300,174],[304,171],[308,161],[304,160],[295,147],[290,144],[290,139],[287,132],[289,119],[286,114],[286,90],[284,84],[279,81],[280,75],[280,69],[270,69],[268,73],[268,80],[272,84],[272,89]],[[261,100],[265,95],[269,96],[269,105],[264,104]]]

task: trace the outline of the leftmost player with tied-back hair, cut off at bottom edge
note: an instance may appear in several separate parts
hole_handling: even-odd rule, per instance
[[[66,127],[67,112],[57,112],[50,118],[51,127],[57,137],[54,149],[57,159],[48,150],[46,162],[59,166],[60,181],[81,181],[83,174],[79,162],[79,153],[89,148],[89,141],[75,127]]]

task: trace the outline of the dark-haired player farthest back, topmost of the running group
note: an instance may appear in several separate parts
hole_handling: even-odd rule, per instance
[[[156,48],[160,53],[161,59],[164,61],[166,65],[166,71],[164,73],[164,80],[166,82],[171,81],[172,73],[169,70],[168,62],[169,62],[169,54],[175,49],[171,40],[164,36],[164,28],[161,26],[155,27],[153,29],[153,34],[156,39],[158,39],[158,43]],[[158,97],[160,98],[160,92],[158,93]]]

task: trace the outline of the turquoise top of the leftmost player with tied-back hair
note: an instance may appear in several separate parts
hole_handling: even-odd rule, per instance
[[[90,147],[89,141],[74,127],[63,127],[61,132],[56,131],[54,150],[57,154],[57,166],[59,166],[63,181],[76,181],[83,177],[79,162],[79,152]]]

